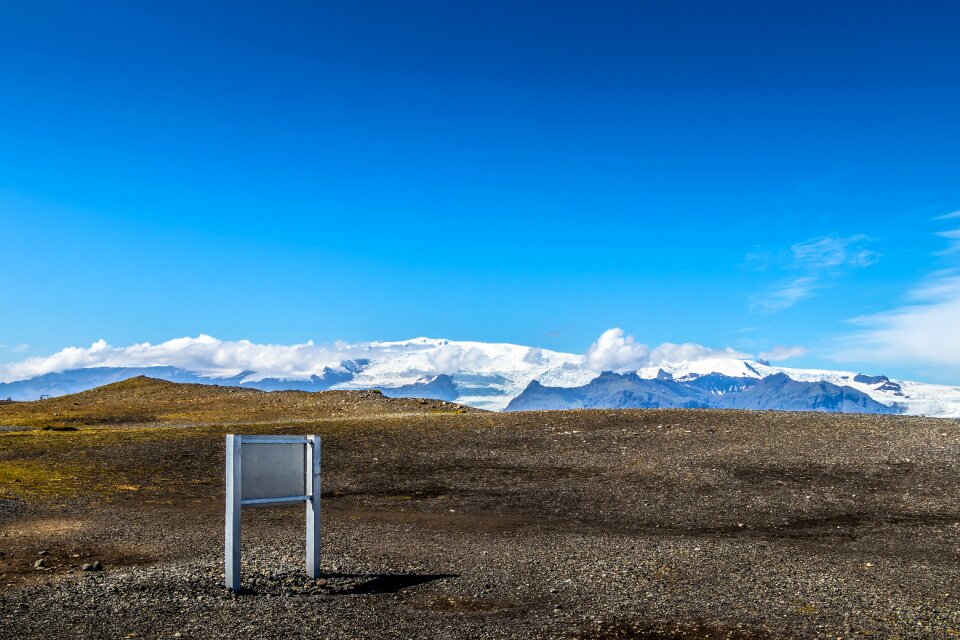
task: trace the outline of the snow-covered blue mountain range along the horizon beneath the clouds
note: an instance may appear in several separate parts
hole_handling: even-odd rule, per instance
[[[0,400],[76,393],[138,375],[266,391],[379,389],[393,397],[448,400],[490,410],[698,407],[960,417],[960,387],[883,375],[790,369],[736,357],[661,362],[636,371],[592,371],[584,356],[512,344],[416,338],[369,343],[366,352],[299,376],[217,375],[153,366],[66,369],[0,383]]]

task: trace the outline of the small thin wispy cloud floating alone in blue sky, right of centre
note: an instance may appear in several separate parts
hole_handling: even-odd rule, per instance
[[[786,277],[752,295],[751,309],[763,313],[789,309],[832,286],[843,273],[875,264],[880,256],[864,246],[869,241],[870,237],[863,234],[828,235],[797,242],[778,253],[755,248],[745,256],[745,265],[761,271],[776,270]]]

